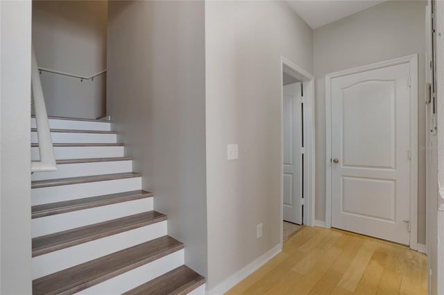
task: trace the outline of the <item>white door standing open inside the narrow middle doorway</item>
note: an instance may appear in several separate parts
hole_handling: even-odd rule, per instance
[[[302,99],[300,82],[284,86],[284,220],[302,224]]]

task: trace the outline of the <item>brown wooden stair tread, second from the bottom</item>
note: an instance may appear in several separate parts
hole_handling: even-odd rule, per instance
[[[74,294],[180,249],[183,249],[181,242],[165,235],[55,274],[37,278],[33,280],[33,294]]]

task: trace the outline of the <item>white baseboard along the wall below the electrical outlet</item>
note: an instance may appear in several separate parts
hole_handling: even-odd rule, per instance
[[[247,276],[250,276],[250,274],[253,274],[259,267],[262,267],[268,260],[278,255],[280,252],[282,252],[282,244],[277,244],[272,249],[268,250],[264,255],[260,256],[250,264],[246,265],[243,269],[240,269],[236,273],[234,273],[232,276],[229,276],[226,278],[222,283],[217,285],[216,287],[210,289],[207,291],[207,294],[214,294],[214,295],[220,295],[227,292],[229,289],[237,285],[241,280],[244,280]]]

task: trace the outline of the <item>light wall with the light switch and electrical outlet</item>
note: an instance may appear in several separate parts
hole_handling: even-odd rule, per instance
[[[311,28],[284,1],[205,3],[210,289],[280,244],[280,55],[312,72],[312,54]]]

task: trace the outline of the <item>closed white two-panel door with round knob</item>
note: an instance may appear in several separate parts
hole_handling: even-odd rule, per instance
[[[409,64],[332,78],[332,226],[409,244]]]

